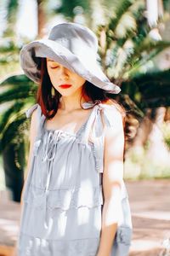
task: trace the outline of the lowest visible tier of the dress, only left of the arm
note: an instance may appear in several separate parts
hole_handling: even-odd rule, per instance
[[[20,247],[20,243],[22,247]],[[20,256],[96,256],[99,237],[77,240],[45,240],[20,233]]]

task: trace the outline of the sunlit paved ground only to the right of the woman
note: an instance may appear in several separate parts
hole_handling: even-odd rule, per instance
[[[130,256],[161,256],[162,241],[170,238],[170,181],[131,182],[127,190],[133,212]]]

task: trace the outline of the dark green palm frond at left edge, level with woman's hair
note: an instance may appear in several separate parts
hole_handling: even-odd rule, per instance
[[[17,136],[20,125],[25,124],[25,112],[35,102],[37,85],[26,75],[16,75],[3,80],[0,86],[0,141],[3,150]]]

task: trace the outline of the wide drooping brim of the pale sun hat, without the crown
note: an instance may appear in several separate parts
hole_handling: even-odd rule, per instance
[[[88,54],[88,53],[87,53]],[[20,66],[26,76],[35,83],[40,83],[40,58],[48,57],[67,67],[72,72],[77,73],[82,78],[88,80],[97,87],[106,90],[109,93],[118,94],[121,89],[118,85],[111,83],[110,79],[99,67],[97,61],[88,58],[88,62],[81,60],[71,50],[63,45],[50,40],[40,39],[27,44],[20,50]]]

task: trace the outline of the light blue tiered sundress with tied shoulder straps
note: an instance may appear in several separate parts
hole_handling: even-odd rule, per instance
[[[115,125],[116,108],[100,101],[82,103],[82,108],[92,111],[76,134],[47,130],[38,103],[26,110],[26,117],[36,108],[39,127],[23,190],[17,255],[96,256],[104,204],[102,118],[106,125]],[[128,203],[123,181],[122,201]],[[111,256],[128,255],[131,216],[127,207],[122,209],[125,218]]]

